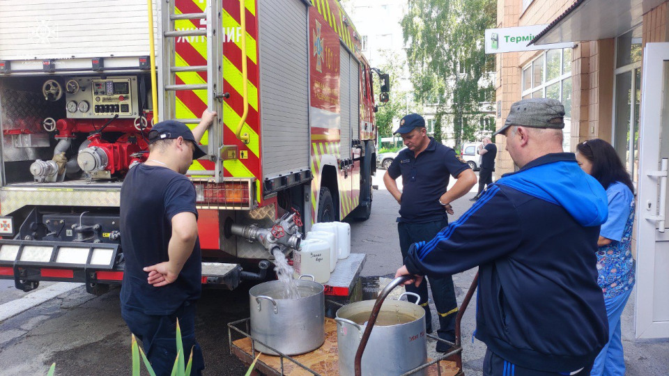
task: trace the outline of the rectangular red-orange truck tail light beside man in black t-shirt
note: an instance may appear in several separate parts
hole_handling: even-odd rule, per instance
[[[249,207],[252,201],[250,180],[196,182],[197,203],[209,206]]]

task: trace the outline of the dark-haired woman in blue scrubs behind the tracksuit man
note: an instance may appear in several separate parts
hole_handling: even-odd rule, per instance
[[[590,375],[624,375],[620,316],[634,285],[634,187],[610,143],[588,140],[579,143],[576,150],[580,168],[599,181],[608,198],[608,219],[601,225],[597,240],[597,282],[606,304],[608,343],[595,359]]]

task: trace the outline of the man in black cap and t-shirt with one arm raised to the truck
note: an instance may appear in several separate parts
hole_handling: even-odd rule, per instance
[[[196,194],[183,174],[193,159],[206,155],[198,142],[215,116],[204,111],[192,132],[176,120],[154,125],[148,159],[130,169],[121,186],[121,315],[156,375],[169,375],[174,366],[177,319],[186,359],[193,349],[192,375],[204,369],[195,340],[195,301],[202,288]]]

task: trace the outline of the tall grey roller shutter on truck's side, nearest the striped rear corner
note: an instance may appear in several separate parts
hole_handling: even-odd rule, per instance
[[[265,180],[309,168],[307,6],[300,0],[258,3]]]

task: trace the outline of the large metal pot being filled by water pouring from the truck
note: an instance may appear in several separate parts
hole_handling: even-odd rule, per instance
[[[325,340],[323,285],[302,280],[305,276],[295,281],[299,299],[284,299],[281,281],[261,283],[249,290],[251,336],[286,355],[316,350]],[[278,355],[258,342],[255,348],[263,354]]]

